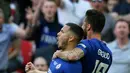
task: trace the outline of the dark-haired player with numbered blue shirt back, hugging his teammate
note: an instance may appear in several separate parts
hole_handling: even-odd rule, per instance
[[[107,73],[112,63],[112,53],[101,41],[101,31],[105,17],[96,10],[88,10],[82,25],[87,39],[81,40],[77,47],[70,51],[57,51],[53,58],[60,57],[66,61],[81,60],[82,73]]]

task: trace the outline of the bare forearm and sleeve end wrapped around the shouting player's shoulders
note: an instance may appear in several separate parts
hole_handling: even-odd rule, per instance
[[[59,57],[67,61],[75,61],[81,59],[86,54],[86,46],[81,42],[77,47],[71,51],[57,51],[54,53],[53,57]]]

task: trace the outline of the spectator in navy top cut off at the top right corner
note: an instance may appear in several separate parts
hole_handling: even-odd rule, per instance
[[[118,19],[130,21],[130,0],[123,1],[115,6],[112,16]]]

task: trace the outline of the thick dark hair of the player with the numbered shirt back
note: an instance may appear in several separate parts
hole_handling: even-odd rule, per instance
[[[91,25],[93,32],[101,33],[105,25],[105,16],[103,13],[94,9],[88,10],[85,20]]]

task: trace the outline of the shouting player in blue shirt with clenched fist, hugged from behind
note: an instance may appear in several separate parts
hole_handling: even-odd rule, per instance
[[[68,23],[57,34],[58,47],[63,52],[71,51],[80,42],[80,40],[83,38],[83,35],[84,35],[84,32],[80,26],[73,23]],[[26,65],[26,71],[29,70],[30,68],[29,64],[30,63]],[[40,73],[39,71],[36,71],[34,68],[33,70],[32,68],[30,68],[30,71],[27,71],[27,72]],[[64,61],[60,58],[56,58],[52,60],[48,73],[82,73],[82,65],[80,61],[72,62],[72,61]]]

